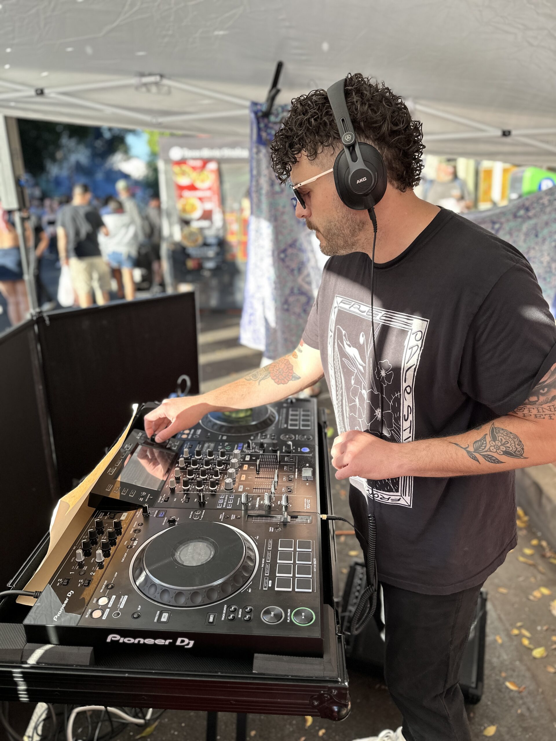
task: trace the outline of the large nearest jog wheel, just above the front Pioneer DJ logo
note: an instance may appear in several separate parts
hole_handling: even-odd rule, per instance
[[[223,522],[184,522],[150,538],[133,558],[136,588],[162,605],[212,605],[239,591],[254,576],[257,546]]]

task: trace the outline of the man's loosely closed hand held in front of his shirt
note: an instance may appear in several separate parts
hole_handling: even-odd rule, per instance
[[[386,442],[368,432],[348,430],[332,444],[332,465],[337,479],[392,479],[403,476],[401,450],[396,442]]]

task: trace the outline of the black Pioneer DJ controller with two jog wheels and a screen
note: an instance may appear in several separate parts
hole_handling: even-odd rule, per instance
[[[27,639],[322,654],[317,405],[210,413],[165,443],[136,417]]]

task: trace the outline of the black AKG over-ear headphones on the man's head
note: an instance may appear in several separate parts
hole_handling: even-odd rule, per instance
[[[338,80],[326,90],[344,145],[334,162],[334,182],[346,206],[368,210],[376,206],[385,193],[386,166],[375,147],[357,142],[345,103],[344,84],[345,79]]]

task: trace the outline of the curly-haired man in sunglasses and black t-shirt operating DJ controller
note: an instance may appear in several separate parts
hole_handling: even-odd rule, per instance
[[[381,738],[469,741],[460,664],[481,585],[517,542],[514,469],[556,459],[556,327],[512,245],[414,194],[422,133],[403,100],[360,74],[345,78],[345,99],[388,173],[374,310],[373,227],[337,194],[328,170],[340,136],[325,90],[312,90],[272,144],[274,172],[305,203],[297,216],[331,256],[302,340],[245,379],[164,402],[145,428],[162,441],[208,411],[277,401],[325,376],[336,478],[350,481],[358,531],[370,513],[377,522],[385,676],[403,714]]]

